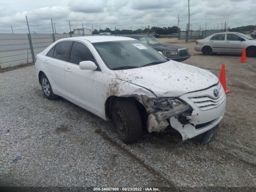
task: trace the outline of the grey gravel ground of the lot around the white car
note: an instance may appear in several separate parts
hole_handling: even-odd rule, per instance
[[[208,146],[148,133],[123,144],[112,122],[47,100],[28,66],[0,73],[0,186],[256,187],[256,58],[239,63],[240,55],[203,56],[194,42],[160,40],[190,48],[184,63],[217,76],[226,64],[226,114]]]

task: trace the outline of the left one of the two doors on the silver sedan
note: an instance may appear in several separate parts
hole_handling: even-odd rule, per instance
[[[225,34],[214,35],[210,39],[210,46],[212,48],[212,52],[224,53],[225,52]]]

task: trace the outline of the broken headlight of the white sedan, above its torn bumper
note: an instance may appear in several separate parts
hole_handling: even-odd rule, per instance
[[[144,105],[149,113],[153,113],[158,110],[170,110],[179,106],[186,106],[186,103],[181,102],[176,97],[157,97],[150,98],[148,96],[141,96]]]

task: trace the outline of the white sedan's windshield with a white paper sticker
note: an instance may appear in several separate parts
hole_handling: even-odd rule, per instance
[[[93,46],[111,70],[138,68],[169,60],[137,40],[99,42]]]

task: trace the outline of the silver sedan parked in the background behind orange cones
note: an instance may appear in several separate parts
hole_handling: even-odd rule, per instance
[[[203,55],[212,53],[242,53],[246,48],[246,56],[256,57],[256,39],[238,32],[215,33],[204,39],[196,40],[195,50]]]

